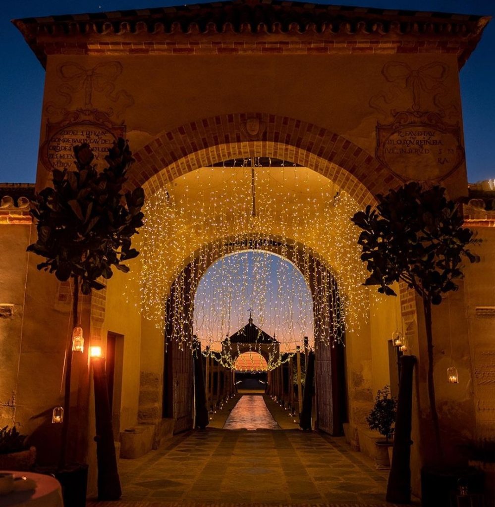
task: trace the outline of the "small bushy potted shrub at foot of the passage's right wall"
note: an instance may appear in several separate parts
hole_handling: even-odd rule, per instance
[[[385,385],[383,389],[378,389],[375,398],[373,410],[366,418],[370,429],[376,429],[385,437],[385,440],[378,440],[376,445],[376,468],[390,468],[390,458],[388,448],[393,445],[391,442],[394,436],[394,423],[397,411],[397,401],[390,394],[390,387]]]

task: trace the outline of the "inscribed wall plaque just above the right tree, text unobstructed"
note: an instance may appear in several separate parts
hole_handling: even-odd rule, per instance
[[[376,127],[376,157],[399,177],[442,181],[464,161],[459,126],[435,113],[397,114]]]

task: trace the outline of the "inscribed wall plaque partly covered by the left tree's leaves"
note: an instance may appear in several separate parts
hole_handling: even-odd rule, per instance
[[[47,140],[40,150],[40,158],[48,170],[74,166],[74,146],[87,142],[94,153],[98,169],[105,164],[105,156],[117,138],[125,135],[123,125],[114,125],[107,115],[87,110],[68,113],[64,119],[47,127]]]

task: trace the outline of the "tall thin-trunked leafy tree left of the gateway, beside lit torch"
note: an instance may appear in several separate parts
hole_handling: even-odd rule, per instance
[[[80,292],[89,295],[91,291],[104,287],[101,279],[109,279],[115,267],[128,272],[123,264],[138,255],[131,248],[131,238],[143,225],[144,191],[135,188],[123,192],[127,181],[127,170],[133,162],[128,144],[119,138],[105,157],[108,167],[98,172],[93,163],[94,155],[87,143],[74,147],[76,170],[53,170],[53,186],[43,189],[32,202],[31,214],[36,221],[38,239],[27,250],[44,257],[38,269],[54,273],[62,282],[73,282],[73,327],[78,328],[78,304]],[[62,442],[57,478],[67,482],[64,495],[74,493],[74,474],[81,467],[68,466],[67,444],[70,421],[70,376],[72,371],[73,347],[66,350],[64,412],[62,421]],[[98,442],[99,443],[99,442]],[[117,474],[113,439],[109,452],[112,454],[112,472],[107,473],[107,493],[100,499],[120,497],[120,481]],[[107,460],[107,463],[109,461]],[[83,467],[84,468],[84,467]],[[87,466],[86,466],[87,474]],[[84,479],[82,479],[84,480]],[[100,481],[98,481],[100,484]],[[84,493],[70,498],[65,504],[85,505]],[[104,498],[102,498],[102,496]]]

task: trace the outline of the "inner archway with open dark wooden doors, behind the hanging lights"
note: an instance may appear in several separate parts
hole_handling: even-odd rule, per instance
[[[165,383],[164,400],[168,397],[169,406],[175,411],[175,414],[169,414],[176,418],[179,416],[181,419],[179,425],[176,423],[176,428],[187,429],[188,424],[192,421],[192,415],[187,412],[187,407],[192,407],[192,389],[193,389],[193,373],[191,370],[190,352],[187,347],[181,350],[178,347],[174,338],[174,334],[186,334],[190,340],[193,337],[193,322],[191,321],[191,313],[189,312],[190,305],[193,304],[194,294],[199,283],[201,276],[206,272],[209,266],[213,265],[224,254],[225,250],[219,248],[222,244],[228,244],[229,238],[219,239],[212,242],[209,246],[210,255],[206,261],[200,263],[199,249],[194,252],[187,260],[185,260],[185,268],[178,273],[174,282],[171,285],[170,292],[167,297],[167,316],[166,316],[166,343],[170,347],[170,351],[166,352],[165,360],[165,378],[167,378],[167,368],[171,371],[168,374],[169,383]],[[298,256],[302,246],[300,243],[293,241],[289,244],[275,241],[269,243],[263,238],[246,238],[245,244],[242,248],[236,249],[230,253],[236,253],[245,250],[262,250],[278,255],[296,266],[301,274],[307,276],[308,288],[312,295],[313,301],[313,318],[317,320],[323,319],[323,313],[333,304],[326,304],[316,297],[317,283],[316,278],[321,276],[321,273],[328,270],[331,273],[331,268],[326,266],[316,253],[310,252],[309,262],[305,262],[302,256]],[[224,252],[224,254],[220,252]],[[331,283],[335,282],[335,278],[331,276]],[[184,289],[185,287],[185,289]],[[332,288],[330,291],[331,297],[335,300],[339,299],[338,286],[335,282],[335,290]],[[175,295],[179,294],[176,299]],[[335,305],[336,307],[338,305]],[[182,315],[177,318],[173,312],[178,309]],[[332,325],[338,326],[338,315],[330,315]],[[174,325],[174,322],[181,322],[180,326]],[[317,392],[317,421],[319,429],[322,429],[330,434],[341,434],[342,423],[345,422],[346,417],[346,388],[345,388],[345,348],[344,343],[341,346],[333,346],[330,342],[317,342],[317,327],[315,326],[315,359],[316,359],[316,376],[315,386]],[[345,337],[343,336],[344,341]],[[239,352],[248,351],[250,348],[239,348]],[[257,350],[268,361],[268,355],[264,354],[265,350]],[[168,360],[167,360],[168,354]],[[175,364],[170,360],[175,356]],[[279,366],[275,369],[275,377],[280,379],[281,369]],[[180,373],[179,373],[180,372]],[[178,382],[172,384],[174,375],[181,374],[180,385]],[[278,376],[277,376],[278,375]],[[172,385],[172,387],[170,387]],[[170,397],[171,396],[171,397]],[[165,408],[165,402],[164,402]],[[188,422],[189,421],[189,422]]]

